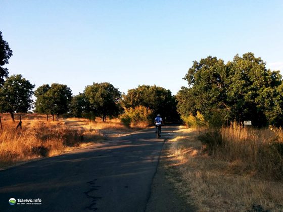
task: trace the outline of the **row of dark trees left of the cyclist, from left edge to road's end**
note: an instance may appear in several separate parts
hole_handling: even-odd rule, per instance
[[[26,113],[33,108],[35,113],[46,114],[46,119],[52,115],[53,120],[55,115],[58,120],[65,114],[89,119],[101,117],[105,121],[107,117],[135,110],[134,120],[137,121],[150,120],[157,114],[167,121],[178,119],[177,103],[171,91],[155,85],[138,86],[122,94],[108,82],[93,83],[82,93],[73,95],[67,85],[53,83],[41,85],[33,92],[35,85],[22,75],[8,77],[8,69],[3,66],[9,64],[12,55],[13,51],[0,32],[0,112],[10,113],[13,120],[14,113]],[[33,94],[35,102],[31,98]]]

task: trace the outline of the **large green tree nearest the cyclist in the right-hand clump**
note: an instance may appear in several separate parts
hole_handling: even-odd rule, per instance
[[[194,61],[184,79],[189,88],[182,88],[177,94],[177,110],[182,116],[197,115],[199,111],[210,124],[220,125],[229,119],[226,102],[227,71],[224,61],[207,57],[200,62]]]

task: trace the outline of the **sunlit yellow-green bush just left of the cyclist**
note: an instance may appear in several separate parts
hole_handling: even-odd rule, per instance
[[[153,111],[144,107],[137,106],[135,108],[124,109],[124,113],[120,115],[121,122],[129,127],[143,126],[147,127],[153,122]]]

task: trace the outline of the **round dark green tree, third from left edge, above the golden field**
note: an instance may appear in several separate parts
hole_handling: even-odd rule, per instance
[[[69,111],[70,102],[72,99],[72,91],[67,85],[53,83],[38,87],[35,91],[36,102],[35,111],[38,113],[57,115],[59,116]]]

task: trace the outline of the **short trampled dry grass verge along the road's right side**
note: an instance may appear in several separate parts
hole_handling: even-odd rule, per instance
[[[182,179],[176,186],[190,203],[199,211],[283,210],[282,182],[255,179],[239,158],[227,161],[204,153],[199,134],[181,128],[169,141],[168,157]]]

